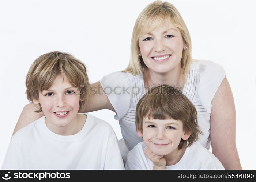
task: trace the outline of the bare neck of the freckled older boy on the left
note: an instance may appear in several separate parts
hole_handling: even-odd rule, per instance
[[[86,121],[85,115],[76,114],[76,117],[65,126],[57,126],[45,118],[45,124],[48,129],[58,135],[68,136],[75,135],[82,130]]]

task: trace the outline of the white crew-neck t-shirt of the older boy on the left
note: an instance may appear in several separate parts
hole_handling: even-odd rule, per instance
[[[124,165],[110,124],[87,114],[75,135],[50,131],[45,116],[17,131],[2,169],[124,169]]]

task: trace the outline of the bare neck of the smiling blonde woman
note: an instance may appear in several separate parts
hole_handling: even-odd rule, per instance
[[[166,84],[173,87],[183,87],[184,84],[181,66],[166,73],[157,73],[145,67],[143,77],[145,87],[149,89],[161,84]]]

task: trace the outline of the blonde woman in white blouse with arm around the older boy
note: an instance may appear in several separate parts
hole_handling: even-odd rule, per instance
[[[187,96],[196,107],[203,132],[199,142],[207,149],[212,146],[225,169],[241,169],[235,142],[236,111],[225,71],[214,62],[192,60],[188,29],[170,3],[155,1],[140,13],[133,28],[128,67],[91,84],[87,104],[80,112],[116,112],[125,142],[121,150],[125,146],[127,152],[143,141],[135,128],[136,104],[159,84],[176,87]],[[31,103],[24,107],[14,132],[42,116],[34,110]]]

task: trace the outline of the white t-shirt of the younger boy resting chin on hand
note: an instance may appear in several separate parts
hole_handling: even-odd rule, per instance
[[[146,145],[138,143],[129,151],[125,169],[153,169],[153,162],[144,154]],[[165,169],[224,169],[221,162],[200,143],[193,143],[188,147],[175,165],[165,166]]]

